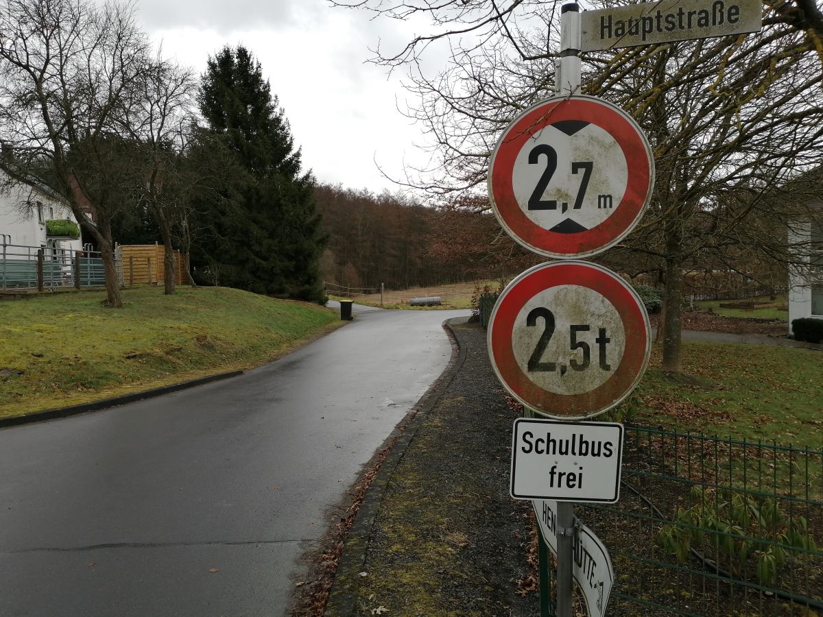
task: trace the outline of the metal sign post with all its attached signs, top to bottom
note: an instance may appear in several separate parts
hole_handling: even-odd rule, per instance
[[[514,118],[489,160],[489,199],[506,233],[546,257],[588,257],[620,242],[649,205],[649,141],[624,110],[579,94],[581,50],[756,30],[759,0],[661,0],[583,16],[576,2],[564,4],[557,95]],[[576,572],[588,617],[602,617],[614,582],[611,560],[597,536],[574,517],[572,504],[616,501],[620,458],[605,452],[617,452],[617,444],[622,452],[623,429],[570,420],[611,409],[639,383],[650,348],[644,304],[607,268],[543,263],[517,276],[500,295],[487,346],[500,383],[526,408],[526,419],[514,424],[510,493],[542,500],[547,517],[539,530],[541,615],[551,615],[545,541],[557,558],[556,615],[572,615]],[[560,421],[528,420],[537,415]],[[593,443],[599,444],[597,453]]]

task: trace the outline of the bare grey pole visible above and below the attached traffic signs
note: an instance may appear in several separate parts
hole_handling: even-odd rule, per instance
[[[556,88],[560,95],[580,90],[580,7],[569,2],[560,8],[560,63]],[[557,503],[557,617],[572,617],[572,559],[574,550],[574,505]]]

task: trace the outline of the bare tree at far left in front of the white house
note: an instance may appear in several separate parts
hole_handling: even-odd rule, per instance
[[[128,206],[111,165],[123,152],[119,118],[151,68],[132,5],[4,0],[0,5],[0,135],[16,164],[48,161],[49,175],[100,247],[106,301],[122,306],[111,220]],[[93,216],[93,218],[92,218]]]

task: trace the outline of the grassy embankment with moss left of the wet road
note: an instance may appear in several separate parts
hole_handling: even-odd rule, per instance
[[[0,417],[114,397],[273,360],[337,311],[228,288],[40,295],[0,304]]]

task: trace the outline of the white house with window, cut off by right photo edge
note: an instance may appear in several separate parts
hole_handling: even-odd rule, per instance
[[[823,211],[823,202],[812,204]],[[823,319],[823,217],[789,227],[788,244],[797,247],[800,265],[789,268],[788,330],[799,318]]]

